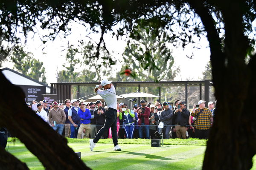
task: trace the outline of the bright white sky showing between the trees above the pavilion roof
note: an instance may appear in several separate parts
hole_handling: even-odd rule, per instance
[[[76,45],[78,40],[84,40],[84,42],[89,40],[89,38],[86,37],[88,31],[84,26],[74,22],[70,27],[72,28],[71,34],[66,38],[58,36],[54,41],[48,41],[46,44],[43,44],[38,34],[30,33],[27,37],[26,44],[24,44],[26,51],[32,52],[35,59],[40,59],[44,62],[48,85],[56,82],[57,71],[64,69],[62,65],[66,62],[65,55],[67,53],[68,44]],[[41,34],[44,34],[44,31],[40,31]],[[99,34],[90,34],[90,38],[95,42],[99,42],[99,37]],[[123,36],[121,39],[116,40],[116,37],[112,38],[112,34],[108,33],[105,34],[104,39],[108,50],[113,51],[113,56],[116,57],[116,59],[122,58],[122,53],[126,47],[126,37]],[[208,47],[209,43],[206,38],[201,39],[200,45],[201,49],[192,48],[192,45],[187,45],[185,50],[181,47],[174,48],[170,45],[169,48],[172,49],[172,56],[175,59],[173,67],[180,67],[180,74],[175,77],[175,81],[199,80],[203,77],[202,72],[209,62],[210,51]],[[191,55],[192,52],[194,53],[192,59],[186,57],[187,55]],[[3,68],[13,68],[11,62],[4,62],[2,66]]]

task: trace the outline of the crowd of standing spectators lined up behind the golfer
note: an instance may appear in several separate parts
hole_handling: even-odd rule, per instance
[[[27,103],[35,113],[60,135],[69,138],[93,139],[105,123],[105,111],[100,100],[85,103],[79,99],[66,99],[64,103],[47,100]],[[207,139],[215,116],[215,102],[198,101],[190,112],[186,103],[175,100],[172,107],[169,102],[155,104],[140,100],[140,104],[128,108],[126,103],[117,106],[117,136],[119,139],[164,139],[189,137]],[[111,128],[102,135],[102,139],[112,138]]]

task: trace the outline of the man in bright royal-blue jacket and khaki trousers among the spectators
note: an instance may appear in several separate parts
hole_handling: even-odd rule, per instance
[[[78,110],[78,115],[80,117],[80,127],[77,133],[77,139],[81,139],[81,135],[85,129],[84,138],[89,138],[90,134],[90,119],[92,117],[89,109],[85,108],[84,102],[79,103],[80,109]]]

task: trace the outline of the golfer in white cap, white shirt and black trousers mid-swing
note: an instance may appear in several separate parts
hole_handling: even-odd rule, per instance
[[[111,84],[112,81],[108,81],[108,79],[104,79],[101,81],[100,85],[96,85],[95,92],[99,94],[102,99],[107,103],[108,109],[105,111],[105,124],[96,134],[94,139],[90,139],[90,150],[93,151],[95,144],[99,141],[102,135],[111,127],[112,130],[112,139],[114,144],[114,150],[121,150],[117,143],[117,134],[116,134],[116,89]],[[104,88],[104,90],[101,90]],[[112,93],[111,93],[112,92]]]

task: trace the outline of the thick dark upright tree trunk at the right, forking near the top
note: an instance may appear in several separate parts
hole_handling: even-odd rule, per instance
[[[256,154],[255,56],[245,64],[249,43],[244,36],[244,1],[219,1],[224,18],[224,52],[204,1],[188,0],[201,17],[211,49],[212,77],[217,99],[215,122],[204,157],[204,170],[250,170]]]

